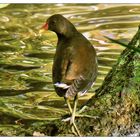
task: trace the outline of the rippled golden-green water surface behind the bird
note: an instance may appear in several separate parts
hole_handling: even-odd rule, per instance
[[[80,97],[86,102],[124,49],[108,36],[128,43],[140,22],[140,4],[11,4],[0,9],[0,112],[24,119],[48,120],[67,112],[54,92],[52,60],[57,37],[40,27],[62,14],[94,45],[99,71],[95,85]]]

